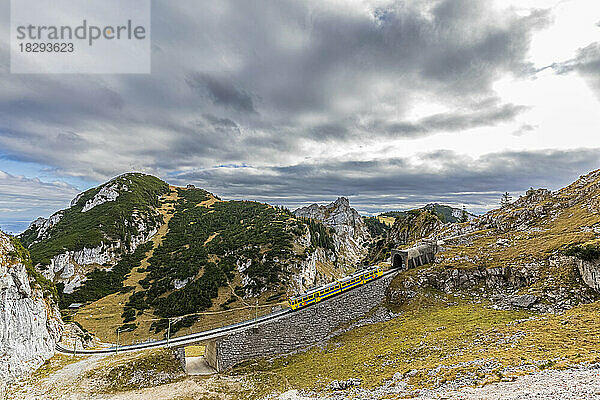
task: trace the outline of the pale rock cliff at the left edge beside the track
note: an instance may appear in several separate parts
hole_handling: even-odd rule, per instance
[[[54,355],[63,326],[55,297],[27,250],[0,232],[0,381],[29,373]]]

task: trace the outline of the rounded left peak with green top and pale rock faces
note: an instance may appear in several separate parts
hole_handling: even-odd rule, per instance
[[[122,175],[38,218],[19,237],[44,276],[72,293],[94,268],[114,266],[158,231],[158,198],[168,190],[153,176]]]

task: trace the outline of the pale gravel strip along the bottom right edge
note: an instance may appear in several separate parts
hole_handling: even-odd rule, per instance
[[[521,376],[512,382],[499,382],[483,387],[457,390],[410,391],[404,382],[374,390],[349,389],[328,394],[304,395],[296,390],[281,394],[278,400],[342,400],[379,399],[401,395],[414,400],[587,400],[600,399],[600,364],[582,365],[568,370],[545,370]],[[413,397],[410,397],[410,396]]]

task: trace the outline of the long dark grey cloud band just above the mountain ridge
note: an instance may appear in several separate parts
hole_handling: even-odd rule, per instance
[[[195,183],[226,198],[250,198],[298,207],[351,198],[363,212],[420,206],[429,202],[466,204],[482,211],[505,191],[557,189],[581,171],[600,167],[598,149],[493,153],[479,158],[449,151],[373,161],[329,161],[255,169],[215,167],[173,174],[171,182]]]

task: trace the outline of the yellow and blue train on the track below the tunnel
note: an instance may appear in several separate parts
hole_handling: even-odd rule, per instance
[[[290,297],[288,299],[288,304],[292,310],[297,310],[299,308],[318,303],[321,300],[333,297],[357,286],[364,285],[369,281],[379,278],[384,272],[385,271],[381,267],[372,267],[362,270],[339,281],[330,283],[329,285],[310,290],[303,295]]]

